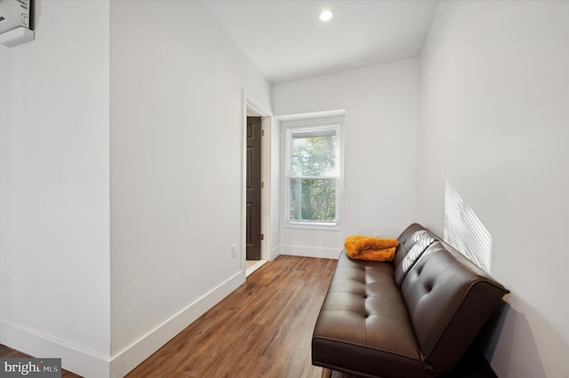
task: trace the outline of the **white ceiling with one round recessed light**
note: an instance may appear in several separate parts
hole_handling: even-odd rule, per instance
[[[271,83],[419,56],[438,0],[202,0]],[[333,20],[318,20],[332,9]]]

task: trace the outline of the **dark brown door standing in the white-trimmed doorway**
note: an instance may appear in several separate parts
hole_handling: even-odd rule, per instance
[[[247,260],[260,260],[260,117],[247,117]]]

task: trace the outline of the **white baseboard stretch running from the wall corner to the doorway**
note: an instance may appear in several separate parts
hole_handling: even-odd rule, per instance
[[[110,377],[119,378],[128,374],[156,350],[168,343],[175,335],[188,327],[200,316],[210,310],[221,299],[229,295],[233,290],[245,281],[244,272],[237,272],[233,277],[213,288],[196,302],[189,304],[185,309],[178,312],[163,324],[148,332],[137,342],[116,353],[110,362]]]

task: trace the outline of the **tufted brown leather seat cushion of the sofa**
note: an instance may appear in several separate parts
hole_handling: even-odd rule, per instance
[[[342,252],[314,330],[312,359],[350,374],[422,376],[393,265],[350,260]]]

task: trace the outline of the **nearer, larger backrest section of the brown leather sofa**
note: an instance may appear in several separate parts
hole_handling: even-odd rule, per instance
[[[437,374],[456,365],[509,291],[437,240],[407,273],[401,293],[423,357]]]

